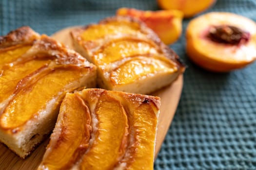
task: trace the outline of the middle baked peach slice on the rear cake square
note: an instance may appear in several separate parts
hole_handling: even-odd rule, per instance
[[[157,53],[158,47],[151,41],[136,38],[123,38],[105,44],[96,55],[93,62],[98,65],[109,64],[125,57],[138,54]]]

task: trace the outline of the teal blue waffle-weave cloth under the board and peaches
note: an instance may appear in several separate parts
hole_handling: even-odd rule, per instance
[[[156,0],[1,0],[0,34],[29,25],[40,34],[86,25],[119,7],[157,10]],[[218,0],[209,11],[256,21],[256,0]],[[185,29],[172,45],[188,66],[177,113],[155,170],[256,170],[256,63],[230,73],[198,68],[185,52]]]

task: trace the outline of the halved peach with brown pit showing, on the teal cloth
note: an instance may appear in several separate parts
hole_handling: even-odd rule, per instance
[[[197,17],[186,32],[188,56],[202,68],[226,72],[256,60],[256,23],[232,13]]]

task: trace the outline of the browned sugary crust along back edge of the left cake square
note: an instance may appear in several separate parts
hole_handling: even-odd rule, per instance
[[[37,53],[55,56],[57,59],[56,62],[59,64],[76,65],[85,61],[77,52],[65,48],[63,44],[47,35],[43,34],[40,36],[28,26],[20,27],[7,35],[0,36],[0,50],[11,50],[16,48],[17,45],[22,46],[27,44],[30,44]]]

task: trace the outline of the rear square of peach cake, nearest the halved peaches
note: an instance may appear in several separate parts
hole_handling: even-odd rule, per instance
[[[151,29],[132,17],[109,17],[71,31],[75,50],[98,67],[107,90],[150,94],[175,81],[185,67]]]

